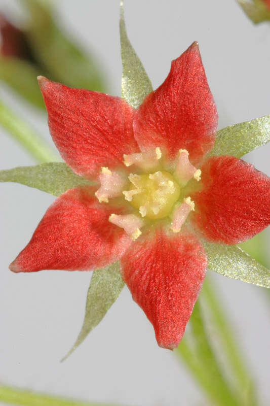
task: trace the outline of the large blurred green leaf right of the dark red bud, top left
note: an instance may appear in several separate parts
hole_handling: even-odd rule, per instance
[[[25,34],[36,59],[50,79],[71,87],[104,91],[104,78],[95,59],[77,47],[56,24],[49,2],[20,0],[29,11]]]

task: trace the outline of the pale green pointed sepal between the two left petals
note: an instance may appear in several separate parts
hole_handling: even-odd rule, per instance
[[[16,182],[59,196],[67,189],[92,183],[63,162],[46,162],[0,171],[0,182]]]

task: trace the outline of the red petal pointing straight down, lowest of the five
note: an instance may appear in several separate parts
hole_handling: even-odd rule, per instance
[[[155,328],[160,347],[178,346],[201,290],[207,259],[192,234],[167,236],[157,229],[121,259],[123,279]]]

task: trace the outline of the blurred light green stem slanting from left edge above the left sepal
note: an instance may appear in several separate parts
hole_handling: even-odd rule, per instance
[[[30,125],[13,111],[5,106],[0,100],[0,125],[4,127],[15,140],[37,162],[59,161],[59,156],[47,145],[47,143],[35,132]]]

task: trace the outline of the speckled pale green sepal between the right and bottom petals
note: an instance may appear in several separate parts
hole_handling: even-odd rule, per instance
[[[270,270],[258,263],[237,245],[204,241],[208,268],[227,278],[270,288]]]

